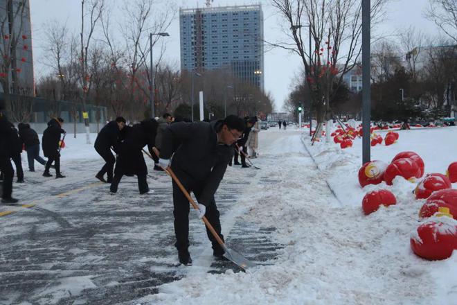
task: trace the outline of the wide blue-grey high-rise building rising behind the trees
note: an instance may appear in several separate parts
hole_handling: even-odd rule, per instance
[[[264,89],[262,6],[179,10],[181,70],[230,69]]]

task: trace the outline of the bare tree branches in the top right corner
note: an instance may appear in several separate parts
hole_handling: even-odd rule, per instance
[[[429,0],[426,16],[433,20],[445,34],[457,42],[457,1]]]

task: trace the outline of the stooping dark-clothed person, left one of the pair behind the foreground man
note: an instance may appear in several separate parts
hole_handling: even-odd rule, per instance
[[[98,155],[105,160],[105,165],[97,173],[96,178],[101,182],[111,183],[113,180],[113,168],[116,159],[111,153],[111,148],[114,150],[116,155],[118,154],[118,137],[120,130],[125,127],[125,119],[122,116],[118,116],[115,121],[107,123],[103,126],[102,130],[98,132],[97,139],[93,145]],[[107,180],[103,177],[107,174]]]

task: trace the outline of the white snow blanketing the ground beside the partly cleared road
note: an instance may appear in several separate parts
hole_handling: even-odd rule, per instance
[[[424,159],[426,173],[445,173],[447,166],[457,161],[456,139],[457,128],[400,131],[397,143],[372,148],[372,159],[389,163],[397,153],[413,150]],[[62,150],[63,171],[66,162],[78,163],[82,169],[79,180],[93,181],[90,179],[98,170],[95,167],[101,162],[87,162],[95,167],[84,167],[84,161],[98,159],[92,146],[84,141],[82,134],[77,139],[66,139],[66,148]],[[182,278],[127,304],[457,304],[457,254],[454,252],[445,261],[431,262],[418,258],[410,250],[410,234],[420,224],[418,211],[424,203],[415,200],[411,193],[415,184],[397,179],[393,186],[384,182],[364,189],[359,186],[361,139],[356,139],[352,148],[341,150],[334,143],[311,146],[307,130],[270,128],[260,132],[259,153],[260,157],[253,159],[253,163],[262,168],[260,171],[228,168],[226,180],[249,181],[249,184],[240,184],[236,205],[221,208],[224,209],[221,223],[228,245],[240,237],[233,229],[240,219],[276,228],[270,237],[283,245],[276,258],[245,273],[232,270],[210,273],[210,247],[204,240],[203,225],[194,219],[193,236],[196,241],[199,238],[203,241],[190,248],[194,265],[177,267]],[[32,175],[32,179],[38,177]],[[76,181],[78,176],[69,179]],[[64,183],[61,181],[58,183]],[[159,182],[170,187],[165,183],[169,183],[166,177]],[[51,183],[55,181],[48,182]],[[227,186],[222,182],[221,189]],[[384,188],[393,191],[397,204],[364,216],[361,198],[370,190]],[[19,191],[19,195],[26,193]],[[109,203],[109,197],[104,196],[96,193],[82,198],[106,197],[102,203],[106,207],[111,204],[112,208],[122,207],[116,202]],[[68,209],[83,209],[82,198]],[[66,206],[55,203],[59,209]],[[136,208],[132,204],[130,209]],[[165,204],[161,209],[165,209]],[[11,219],[5,221],[10,221],[12,226],[22,221]],[[195,227],[201,230],[195,233]],[[3,229],[6,234],[14,233],[14,227],[8,224],[3,223]],[[259,239],[256,243],[262,245],[265,241]],[[74,248],[82,246],[74,245]],[[145,258],[146,262],[150,259]],[[168,261],[175,259],[173,256]],[[82,282],[84,285],[67,282],[60,285],[73,287],[71,293],[93,288],[94,281],[89,277],[84,277]]]

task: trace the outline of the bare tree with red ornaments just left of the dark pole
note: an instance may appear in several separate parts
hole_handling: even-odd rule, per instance
[[[372,1],[372,24],[377,24],[388,0]],[[319,122],[330,119],[330,102],[343,75],[361,55],[361,1],[271,0],[283,19],[286,42],[269,42],[300,56]],[[312,46],[305,38],[311,33]],[[333,84],[337,83],[335,87]]]

